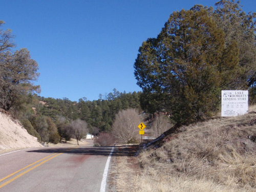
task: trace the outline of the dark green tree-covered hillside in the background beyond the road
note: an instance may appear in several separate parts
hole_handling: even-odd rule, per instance
[[[115,115],[119,111],[140,109],[140,94],[124,92],[108,100],[88,101],[83,98],[78,102],[30,94],[24,108],[16,116],[27,130],[34,129],[33,135],[42,142],[58,143],[72,137],[78,142],[87,133],[98,135],[100,132],[111,132]],[[84,129],[76,126],[79,123],[83,124]]]

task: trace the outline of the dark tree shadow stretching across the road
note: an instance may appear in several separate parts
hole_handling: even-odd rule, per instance
[[[112,156],[135,156],[138,145],[122,145],[114,146]],[[103,155],[109,156],[112,150],[112,146],[108,147],[65,147],[65,148],[40,148],[38,150],[27,151],[29,153],[66,153],[66,154],[77,154],[77,155]]]

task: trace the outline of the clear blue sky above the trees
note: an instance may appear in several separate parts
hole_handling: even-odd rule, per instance
[[[142,42],[156,37],[173,11],[218,0],[0,0],[0,20],[16,49],[39,66],[40,96],[72,101],[99,94],[141,91],[134,62]],[[241,0],[245,12],[256,1]]]

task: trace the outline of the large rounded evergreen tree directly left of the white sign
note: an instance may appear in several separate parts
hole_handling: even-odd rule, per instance
[[[232,82],[243,74],[238,43],[225,44],[223,29],[203,8],[171,14],[158,37],[143,42],[134,68],[147,99],[142,107],[169,111],[178,123],[210,116],[221,89],[236,89]]]

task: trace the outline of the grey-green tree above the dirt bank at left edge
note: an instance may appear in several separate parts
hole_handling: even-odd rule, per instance
[[[2,24],[0,20],[0,27]],[[33,84],[39,76],[37,62],[25,48],[10,52],[13,47],[11,30],[0,28],[0,107],[7,111],[12,106],[19,108],[29,92],[40,91],[39,86]]]

